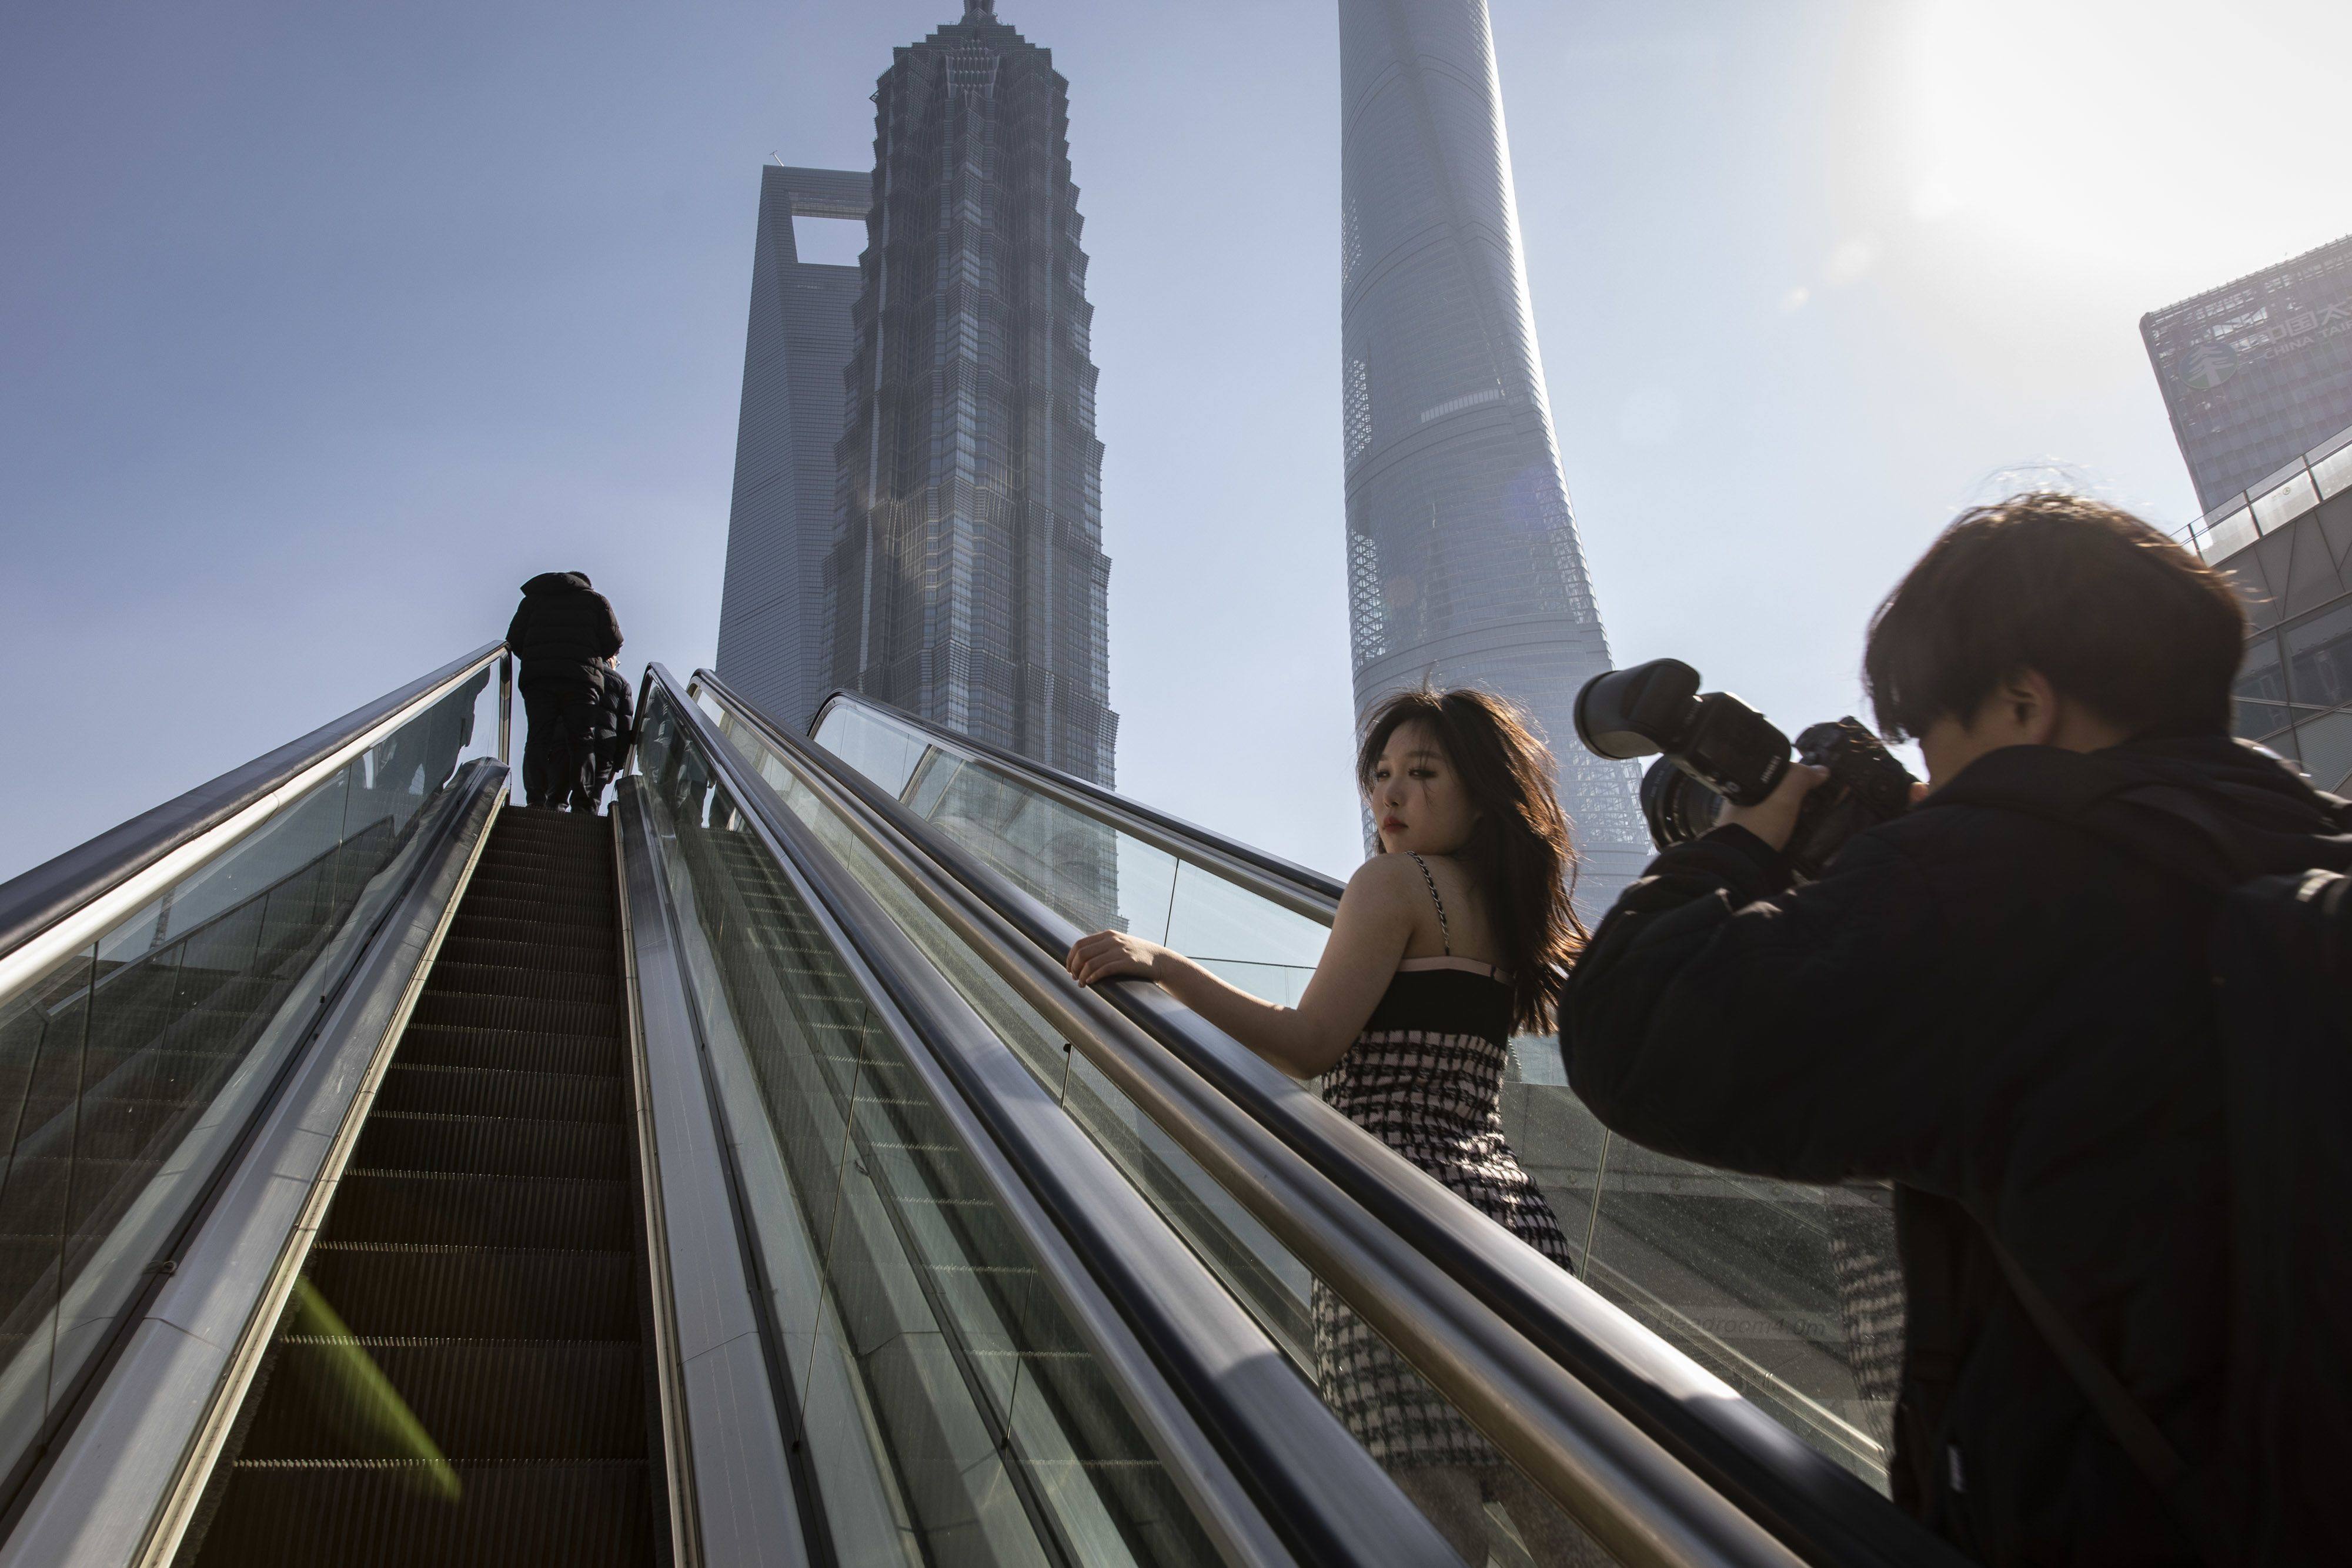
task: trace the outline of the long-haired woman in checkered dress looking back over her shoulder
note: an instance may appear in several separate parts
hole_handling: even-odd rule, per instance
[[[1138,976],[1282,1067],[1324,1079],[1350,1121],[1569,1267],[1559,1222],[1503,1140],[1512,1032],[1550,1032],[1583,943],[1569,905],[1576,851],[1552,757],[1484,691],[1399,691],[1364,726],[1357,783],[1381,832],[1338,900],[1296,1009],[1122,931],[1070,947],[1082,983]],[[1322,1389],[1348,1429],[1472,1566],[1486,1502],[1510,1509],[1536,1561],[1581,1561],[1578,1533],[1388,1345],[1315,1286]]]

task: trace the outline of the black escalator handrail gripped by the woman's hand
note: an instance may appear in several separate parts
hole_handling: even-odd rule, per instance
[[[696,682],[755,726],[762,738],[807,759],[891,823],[901,837],[920,846],[1049,959],[1058,961],[1070,943],[1084,936],[866,773],[762,715],[722,677],[696,670]],[[1037,766],[1025,759],[1011,762],[1021,769]],[[1265,1131],[1348,1192],[1406,1246],[1435,1260],[1510,1328],[1592,1387],[1611,1408],[1806,1561],[1957,1561],[1950,1549],[1889,1507],[1858,1476],[1804,1446],[1745,1399],[1715,1392],[1719,1382],[1682,1352],[1656,1335],[1625,1335],[1621,1326],[1590,1312],[1573,1293],[1538,1288],[1524,1258],[1517,1255],[1526,1248],[1501,1227],[1432,1222],[1428,1208],[1416,1204],[1402,1185],[1402,1171],[1383,1171],[1385,1161],[1364,1161],[1352,1143],[1338,1135],[1338,1128],[1327,1126],[1327,1121],[1338,1119],[1338,1112],[1319,1103],[1301,1105],[1296,1098],[1268,1095],[1251,1072],[1235,1070],[1232,1041],[1160,987],[1117,983],[1101,987],[1101,994],[1150,1039],[1167,1046],[1218,1093],[1242,1105]]]

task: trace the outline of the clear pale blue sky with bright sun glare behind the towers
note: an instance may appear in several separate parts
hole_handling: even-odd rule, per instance
[[[710,658],[760,162],[960,0],[0,19],[0,877],[579,567]],[[1070,78],[1120,783],[1345,870],[1329,0],[1002,0]],[[2194,512],[2143,310],[2352,230],[2326,0],[1496,0],[1621,661],[1797,726],[1950,512]]]

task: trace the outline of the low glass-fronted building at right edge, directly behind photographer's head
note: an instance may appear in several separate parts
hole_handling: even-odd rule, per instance
[[[2199,517],[2187,543],[2234,578],[2253,625],[2237,733],[2352,792],[2352,423]]]

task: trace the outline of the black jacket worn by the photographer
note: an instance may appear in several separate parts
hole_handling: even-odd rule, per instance
[[[1969,804],[2086,797],[2117,771],[2192,795],[2227,842],[2178,818]],[[1799,891],[1755,835],[1719,827],[1658,856],[1595,933],[1562,1006],[1569,1081],[1668,1154],[1896,1182],[1898,1502],[1985,1561],[2194,1561],[1971,1215],[2176,1448],[2209,1455],[2227,1244],[2216,896],[2166,865],[2343,867],[2347,827],[2343,802],[2225,736],[1992,752]]]

